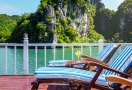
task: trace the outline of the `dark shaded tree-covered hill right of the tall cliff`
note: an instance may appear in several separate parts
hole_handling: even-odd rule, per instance
[[[132,42],[132,0],[124,0],[115,12],[101,8],[96,12],[95,30],[112,42]]]

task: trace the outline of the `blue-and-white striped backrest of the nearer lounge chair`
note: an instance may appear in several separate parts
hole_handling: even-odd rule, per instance
[[[118,71],[127,73],[127,71],[132,67],[132,46],[127,46],[121,51],[117,58],[110,64],[110,68],[116,69]],[[106,70],[105,75],[116,74],[112,71]]]

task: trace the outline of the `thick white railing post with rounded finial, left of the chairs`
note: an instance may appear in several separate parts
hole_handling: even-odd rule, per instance
[[[28,74],[28,34],[23,35],[23,74]]]

